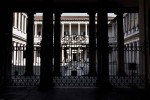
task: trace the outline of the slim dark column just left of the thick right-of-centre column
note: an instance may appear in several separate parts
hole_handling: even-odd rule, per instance
[[[89,13],[89,76],[96,75],[95,12]]]

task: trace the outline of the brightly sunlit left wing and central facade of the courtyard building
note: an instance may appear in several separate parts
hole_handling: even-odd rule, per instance
[[[108,17],[108,23],[114,17]],[[97,30],[97,18],[95,17],[95,30]],[[42,16],[34,16],[34,61],[33,65],[40,69],[40,45],[42,40]],[[55,22],[53,21],[53,29]],[[25,73],[18,71],[19,66],[26,66],[26,40],[27,40],[27,15],[25,13],[14,13],[13,25],[13,58],[15,65],[14,72],[20,75]],[[110,38],[112,27],[109,24]],[[53,33],[54,34],[54,33]],[[96,34],[96,33],[93,33]],[[89,17],[88,16],[61,16],[61,73],[62,76],[71,76],[73,73],[77,76],[88,75],[89,73]],[[110,40],[113,42],[112,40]],[[53,42],[54,43],[54,42]],[[96,58],[95,58],[96,60]],[[54,63],[54,60],[53,60]],[[97,66],[97,64],[95,64]],[[18,67],[17,67],[18,66]],[[34,70],[34,73],[40,75],[40,71]]]

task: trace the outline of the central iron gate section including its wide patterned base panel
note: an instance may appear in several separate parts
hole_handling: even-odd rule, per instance
[[[60,77],[56,86],[96,86],[97,77],[89,76],[89,40],[85,35],[65,35],[61,40]]]

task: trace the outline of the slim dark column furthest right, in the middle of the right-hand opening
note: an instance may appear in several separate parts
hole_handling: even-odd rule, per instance
[[[123,13],[117,13],[117,42],[118,42],[118,75],[124,76],[124,33]]]

